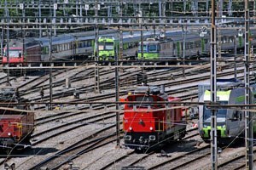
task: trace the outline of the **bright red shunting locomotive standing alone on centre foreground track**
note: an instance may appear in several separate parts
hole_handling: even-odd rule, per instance
[[[186,124],[180,105],[155,104],[159,101],[177,102],[181,99],[160,92],[158,87],[140,87],[123,100],[142,102],[125,104],[124,140],[125,145],[131,149],[146,150],[185,136]]]

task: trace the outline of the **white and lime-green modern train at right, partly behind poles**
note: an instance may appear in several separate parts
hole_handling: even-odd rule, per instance
[[[241,82],[235,79],[220,79],[217,81],[217,102],[220,105],[244,105],[245,89]],[[211,100],[210,84],[199,85],[200,102]],[[252,87],[253,94],[255,88]],[[252,95],[253,96],[253,95]],[[252,102],[255,103],[254,96]],[[199,133],[201,138],[209,143],[211,140],[212,111],[205,105],[199,106]],[[217,110],[217,140],[218,144],[229,144],[237,137],[244,137],[244,111],[233,109]],[[256,132],[256,123],[253,121],[253,132]]]

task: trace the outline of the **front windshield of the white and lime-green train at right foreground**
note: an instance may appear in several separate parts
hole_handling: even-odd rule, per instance
[[[228,104],[227,101],[220,101],[221,105]],[[212,110],[208,109],[206,106],[204,106],[203,109],[203,119],[205,122],[211,122],[211,116],[212,116]],[[217,111],[217,121],[218,120],[225,120],[225,117],[227,116],[227,110],[226,109],[218,109]]]

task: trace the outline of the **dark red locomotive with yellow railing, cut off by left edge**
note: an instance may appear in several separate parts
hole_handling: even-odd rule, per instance
[[[0,102],[6,102],[0,107],[0,150],[10,151],[23,149],[30,145],[34,130],[34,113],[26,111],[24,105],[8,105],[8,102],[25,102],[20,98],[15,88],[1,88]]]

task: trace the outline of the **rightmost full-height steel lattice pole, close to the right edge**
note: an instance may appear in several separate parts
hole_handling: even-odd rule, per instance
[[[245,105],[249,105],[251,102],[250,96],[250,63],[249,61],[249,8],[248,0],[244,1],[245,6],[245,47],[244,47],[244,57],[245,57]],[[245,142],[246,142],[246,169],[253,169],[253,113],[247,111],[249,109],[246,107],[245,113]]]

